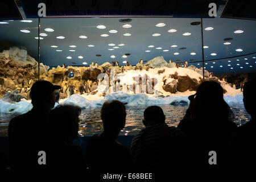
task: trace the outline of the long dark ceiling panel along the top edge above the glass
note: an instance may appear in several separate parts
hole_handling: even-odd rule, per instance
[[[210,18],[209,3],[220,0],[21,0],[27,18],[38,18],[38,4],[46,4],[46,16],[174,16]]]

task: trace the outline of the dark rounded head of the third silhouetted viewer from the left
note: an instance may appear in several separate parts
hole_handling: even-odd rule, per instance
[[[125,105],[117,100],[104,102],[101,107],[101,119],[104,132],[116,135],[125,127],[126,109]]]

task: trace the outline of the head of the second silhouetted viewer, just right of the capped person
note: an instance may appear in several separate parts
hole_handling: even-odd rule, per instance
[[[78,137],[81,108],[73,105],[58,105],[51,110],[49,127],[51,134],[60,140],[72,143]],[[56,138],[56,137],[55,137]]]

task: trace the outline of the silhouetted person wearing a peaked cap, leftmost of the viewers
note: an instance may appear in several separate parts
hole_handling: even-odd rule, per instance
[[[47,165],[39,165],[38,152],[47,151],[48,115],[55,105],[55,90],[58,89],[60,86],[51,82],[36,81],[30,90],[32,109],[11,119],[8,135],[10,167],[14,172],[47,168]]]

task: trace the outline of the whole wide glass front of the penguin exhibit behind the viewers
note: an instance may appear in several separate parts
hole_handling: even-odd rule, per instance
[[[168,125],[177,126],[188,108],[188,96],[203,80],[221,84],[234,121],[242,125],[250,119],[241,90],[248,74],[256,71],[256,23],[219,15],[202,22],[41,18],[39,30],[38,18],[2,20],[0,135],[7,136],[11,118],[32,108],[29,93],[38,78],[61,86],[55,105],[82,108],[81,136],[103,130],[100,109],[111,100],[126,104],[126,125],[119,135],[137,134],[150,105],[161,106]]]

